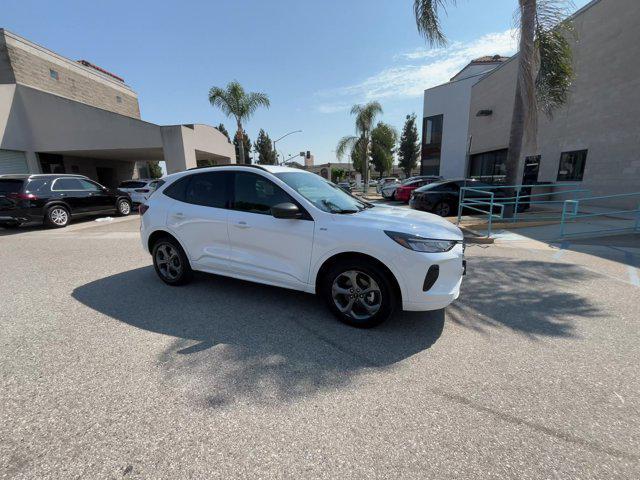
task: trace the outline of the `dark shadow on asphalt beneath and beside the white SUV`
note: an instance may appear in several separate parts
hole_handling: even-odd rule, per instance
[[[76,288],[73,297],[136,328],[168,335],[158,354],[168,379],[195,382],[208,406],[282,401],[335,389],[367,369],[392,367],[442,335],[444,310],[400,312],[360,330],[313,295],[214,275],[188,286],[143,267]]]

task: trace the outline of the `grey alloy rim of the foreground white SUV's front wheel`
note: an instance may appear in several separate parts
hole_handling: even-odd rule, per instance
[[[342,272],[333,281],[331,296],[344,315],[356,320],[373,317],[382,306],[382,292],[376,281],[358,270]]]

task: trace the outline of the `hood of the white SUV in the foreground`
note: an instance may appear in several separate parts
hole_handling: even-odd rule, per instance
[[[342,216],[341,216],[342,217]],[[432,213],[410,208],[376,205],[362,212],[345,215],[354,222],[367,222],[380,230],[409,233],[438,240],[462,240],[462,231],[453,223]]]

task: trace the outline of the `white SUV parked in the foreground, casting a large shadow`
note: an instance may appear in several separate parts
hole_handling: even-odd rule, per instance
[[[358,327],[398,306],[446,307],[465,270],[463,236],[451,223],[363,202],[295,168],[176,173],[140,212],[142,244],[165,283],[182,285],[199,270],[318,293]]]

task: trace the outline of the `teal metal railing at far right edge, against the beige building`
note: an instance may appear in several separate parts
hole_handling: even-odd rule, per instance
[[[607,209],[603,212],[588,212],[580,213],[580,205],[585,203],[598,201],[599,203],[606,203],[611,199],[620,200],[624,198],[638,198],[638,207],[635,209]],[[606,228],[600,228],[598,230],[582,230],[578,232],[567,232],[567,227],[571,223],[576,223],[580,219],[590,218],[610,218],[618,222],[627,222],[620,225],[608,225]],[[578,235],[593,235],[602,233],[622,233],[622,232],[640,232],[640,192],[635,193],[621,193],[617,195],[603,195],[599,197],[584,197],[574,200],[565,200],[562,206],[562,216],[560,219],[560,237],[566,238],[570,236]]]

